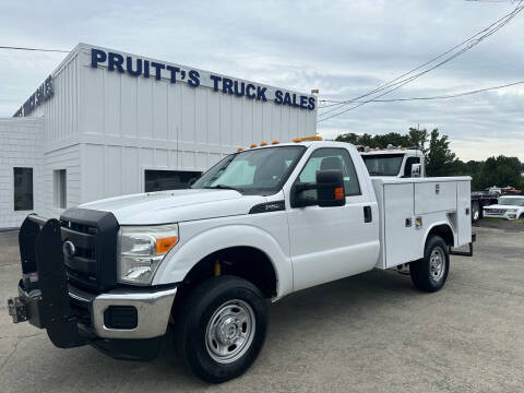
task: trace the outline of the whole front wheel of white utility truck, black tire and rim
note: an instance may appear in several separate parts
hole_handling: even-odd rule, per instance
[[[267,302],[243,278],[212,277],[189,294],[175,323],[186,365],[204,381],[221,383],[257,359],[265,340]]]

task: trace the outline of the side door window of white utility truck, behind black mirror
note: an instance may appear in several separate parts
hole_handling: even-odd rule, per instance
[[[342,170],[346,196],[361,194],[355,166],[349,153],[345,148],[325,147],[314,151],[296,182],[299,184],[315,184],[317,172],[325,169]],[[317,190],[306,190],[302,192],[302,196],[308,200],[317,200]]]

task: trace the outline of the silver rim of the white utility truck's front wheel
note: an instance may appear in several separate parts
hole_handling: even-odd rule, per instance
[[[254,329],[254,312],[250,305],[239,299],[226,301],[207,322],[207,354],[219,364],[238,360],[251,346]]]

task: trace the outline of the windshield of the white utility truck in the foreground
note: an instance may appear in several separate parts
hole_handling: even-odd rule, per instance
[[[231,154],[202,175],[191,188],[271,195],[282,188],[305,151],[305,146],[297,145]]]

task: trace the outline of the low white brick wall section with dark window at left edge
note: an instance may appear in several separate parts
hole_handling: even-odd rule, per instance
[[[0,228],[20,227],[27,214],[44,206],[43,132],[41,118],[0,119]],[[33,168],[33,211],[14,211],[14,167]]]

